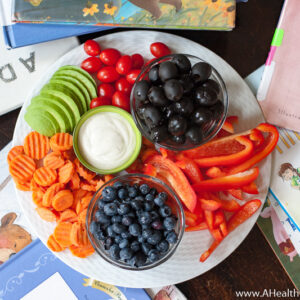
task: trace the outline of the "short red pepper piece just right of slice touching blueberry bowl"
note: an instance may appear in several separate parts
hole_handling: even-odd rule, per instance
[[[185,157],[182,153],[178,154],[176,159],[176,165],[182,169],[183,173],[187,176],[192,184],[199,183],[201,180],[203,180],[202,173],[194,160]]]

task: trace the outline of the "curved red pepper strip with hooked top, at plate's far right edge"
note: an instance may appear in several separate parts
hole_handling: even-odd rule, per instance
[[[269,133],[269,136],[266,138],[267,144],[262,147],[262,149],[255,153],[252,157],[250,157],[248,160],[242,162],[241,164],[234,166],[229,169],[230,174],[236,174],[239,172],[243,172],[245,170],[248,170],[261,160],[263,160],[265,157],[267,157],[276,147],[279,133],[275,126],[262,123],[256,127],[261,132]]]

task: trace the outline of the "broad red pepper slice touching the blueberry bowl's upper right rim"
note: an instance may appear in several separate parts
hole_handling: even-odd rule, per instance
[[[196,193],[176,164],[168,158],[163,158],[161,155],[150,157],[147,163],[156,168],[157,175],[164,178],[172,186],[189,211],[194,212],[197,204]]]

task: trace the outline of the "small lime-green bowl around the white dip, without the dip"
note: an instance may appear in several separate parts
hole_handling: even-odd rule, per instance
[[[89,164],[84,157],[81,155],[80,151],[79,151],[79,147],[78,147],[78,134],[79,134],[79,130],[82,126],[82,124],[91,116],[100,113],[100,112],[114,112],[117,113],[121,116],[123,116],[131,125],[135,136],[136,136],[136,147],[134,149],[134,152],[132,154],[132,156],[130,157],[130,159],[124,163],[123,165],[111,169],[111,170],[102,170],[102,169],[98,169],[94,166],[92,166],[91,164]],[[73,133],[73,147],[74,147],[74,152],[77,156],[77,158],[79,159],[79,161],[89,170],[98,173],[98,174],[113,174],[113,173],[118,173],[123,171],[124,169],[128,168],[138,157],[140,150],[141,150],[141,146],[142,146],[142,135],[140,133],[140,131],[137,129],[132,116],[126,112],[125,110],[115,107],[115,106],[111,106],[111,105],[103,105],[103,106],[99,106],[96,108],[93,108],[89,111],[87,111],[83,116],[81,116],[79,122],[76,124],[76,127],[74,129],[74,133]]]

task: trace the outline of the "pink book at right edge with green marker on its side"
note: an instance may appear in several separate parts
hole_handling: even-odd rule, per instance
[[[271,43],[257,99],[268,122],[300,128],[300,1],[286,0]]]

